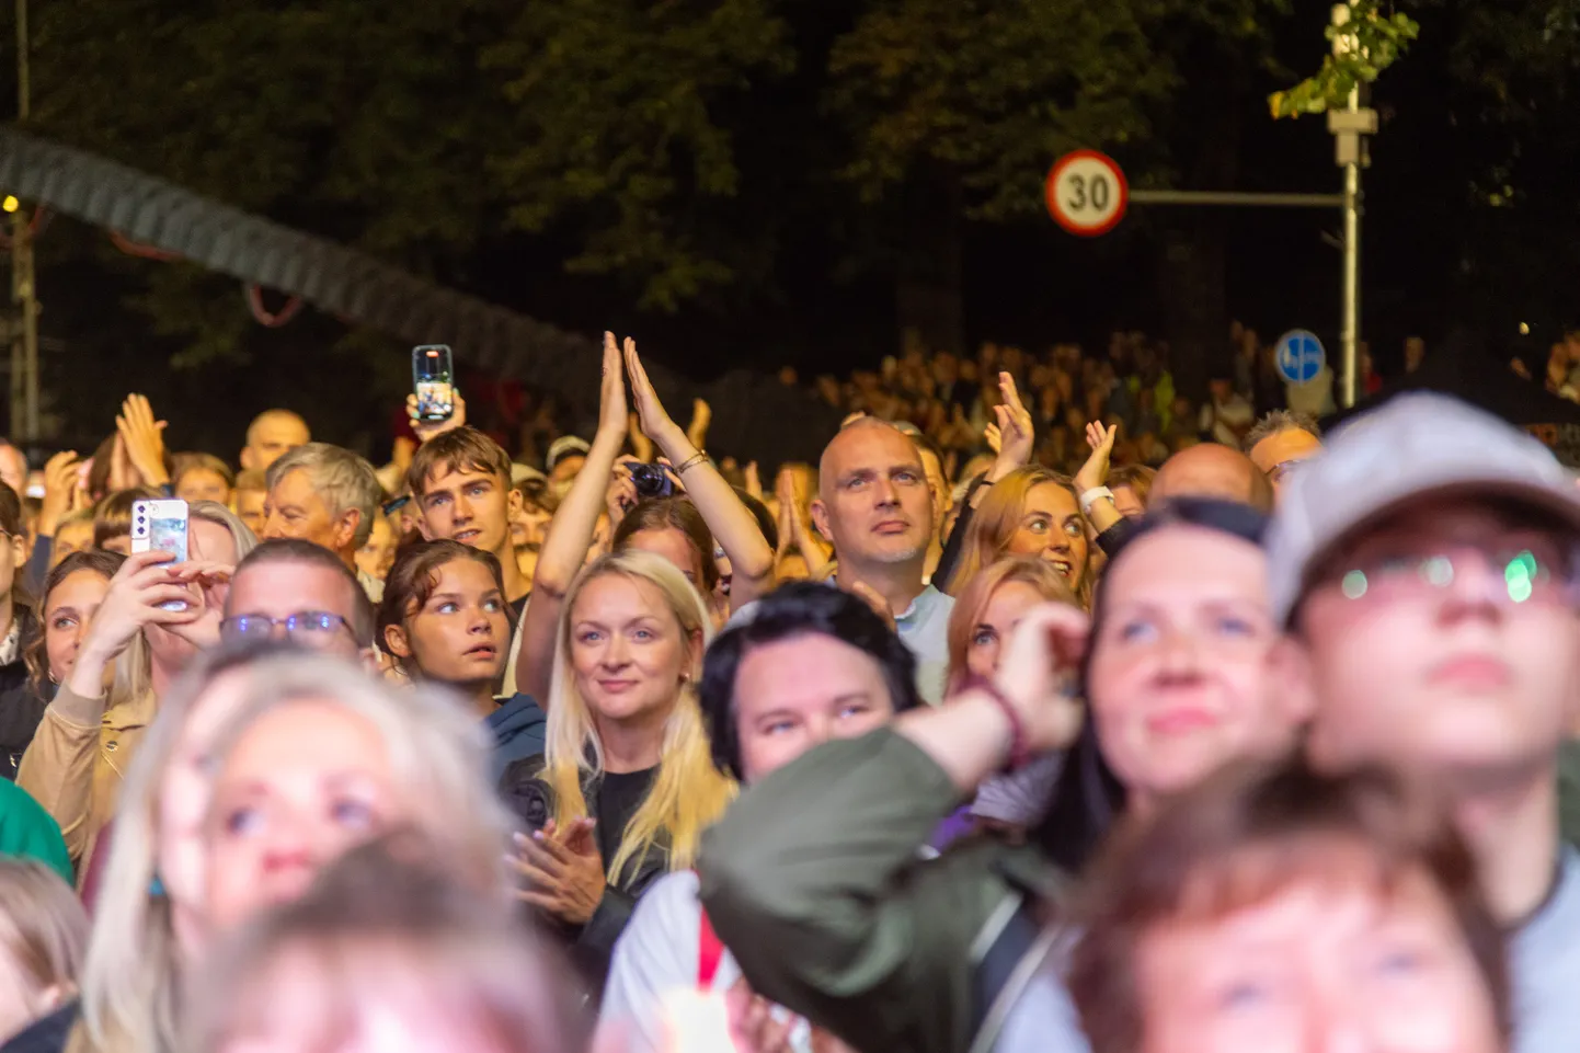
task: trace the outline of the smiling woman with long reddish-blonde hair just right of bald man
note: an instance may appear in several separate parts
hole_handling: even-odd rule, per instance
[[[969,530],[950,579],[951,594],[959,596],[984,566],[1029,555],[1051,563],[1081,606],[1092,606],[1085,517],[1068,476],[1041,465],[1016,468],[992,485],[972,514]]]

